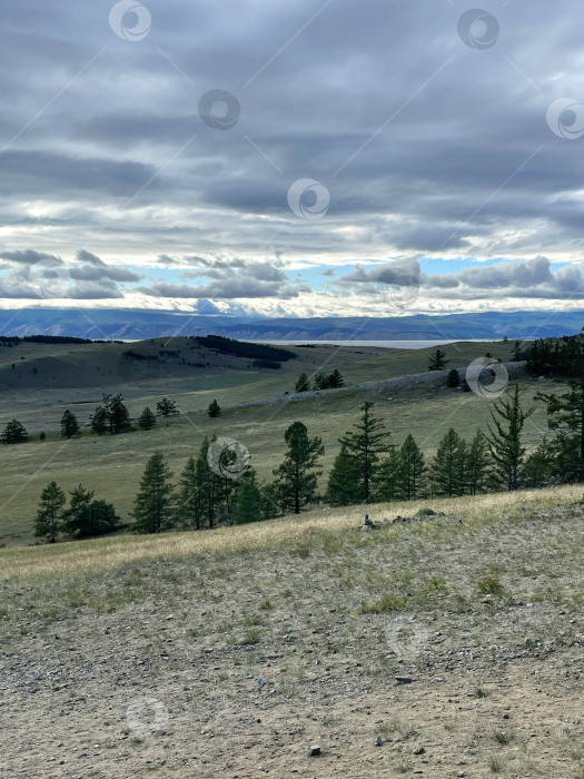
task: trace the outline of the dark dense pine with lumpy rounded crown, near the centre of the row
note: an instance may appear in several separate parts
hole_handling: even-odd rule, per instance
[[[288,451],[281,465],[274,470],[280,503],[295,514],[313,497],[321,471],[318,460],[325,453],[318,436],[308,437],[306,425],[294,422],[284,434]]]

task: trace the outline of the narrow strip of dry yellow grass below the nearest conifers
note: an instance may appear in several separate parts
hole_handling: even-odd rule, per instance
[[[489,493],[474,497],[424,499],[408,503],[379,503],[313,511],[268,522],[225,527],[212,532],[174,532],[162,535],[118,535],[95,541],[68,542],[46,546],[13,546],[0,550],[2,579],[67,576],[106,571],[139,561],[181,559],[189,555],[244,552],[281,543],[301,543],[314,532],[335,533],[362,524],[364,511],[373,519],[413,516],[432,506],[447,515],[464,516],[462,530],[477,531],[486,524],[513,520],[521,512],[571,503],[582,497],[581,485],[550,490]],[[434,532],[432,522],[417,525],[420,533]],[[389,532],[399,532],[399,525]]]

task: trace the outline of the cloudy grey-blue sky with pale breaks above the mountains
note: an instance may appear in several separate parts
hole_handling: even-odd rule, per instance
[[[3,0],[0,305],[584,308],[575,0]]]

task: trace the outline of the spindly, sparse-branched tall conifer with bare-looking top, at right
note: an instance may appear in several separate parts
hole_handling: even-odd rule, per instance
[[[522,433],[534,411],[535,406],[527,411],[522,408],[518,384],[499,397],[491,411],[494,428],[489,425],[486,438],[494,460],[495,477],[507,490],[517,490],[519,486],[519,472],[525,455]]]

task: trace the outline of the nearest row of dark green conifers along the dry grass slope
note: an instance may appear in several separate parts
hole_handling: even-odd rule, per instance
[[[242,524],[285,513],[299,514],[324,500],[344,506],[426,496],[476,495],[486,491],[517,490],[555,483],[584,482],[584,379],[572,383],[564,394],[540,394],[547,404],[557,434],[526,455],[524,428],[535,406],[525,407],[518,384],[513,385],[491,410],[491,423],[469,440],[451,427],[427,458],[412,434],[398,446],[384,421],[365,402],[353,428],[340,438],[339,451],[318,494],[325,447],[310,436],[303,422],[285,432],[286,451],[275,479],[260,483],[245,462],[230,466],[238,454],[220,451],[217,462],[209,454],[216,438],[205,438],[197,455],[188,457],[178,481],[160,452],[148,461],[133,501],[132,529],[159,533],[171,529],[214,529],[219,522]],[[93,493],[79,485],[71,506],[55,482],[42,493],[37,535],[53,541],[59,532],[73,538],[112,532],[120,526],[113,506],[93,501]]]

